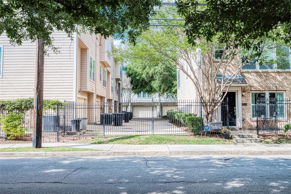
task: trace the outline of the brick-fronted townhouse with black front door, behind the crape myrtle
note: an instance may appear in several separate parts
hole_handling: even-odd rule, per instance
[[[282,46],[283,47],[283,46]],[[282,49],[282,48],[280,48]],[[227,93],[228,99],[232,101],[229,104],[229,108],[232,111],[228,115],[230,127],[239,129],[255,129],[257,125],[257,95],[260,99],[271,99],[277,95],[277,99],[283,102],[283,100],[291,97],[291,68],[290,68],[290,48],[283,47],[283,50],[289,54],[288,63],[282,64],[265,64],[258,65],[258,63],[250,63],[244,65],[241,72],[235,78],[235,81],[230,86]],[[217,52],[216,52],[217,53]],[[218,63],[220,55],[216,54],[213,63]],[[269,53],[269,59],[276,59],[276,53]],[[200,61],[203,60],[203,56],[200,56]],[[278,58],[279,62],[281,61]],[[200,62],[199,61],[199,62]],[[206,61],[207,63],[207,61]],[[214,64],[215,65],[215,64]],[[237,56],[231,63],[230,70],[226,74],[226,78],[233,74],[233,71],[241,65],[240,56]],[[280,68],[278,66],[281,65]],[[197,68],[193,65],[194,68]],[[200,80],[200,86],[203,88],[203,75],[199,74],[197,69],[197,76]],[[189,72],[191,74],[191,72]],[[218,84],[221,83],[222,74],[217,75]],[[192,81],[181,71],[177,69],[177,93],[179,100],[194,100],[198,101],[198,95]],[[284,101],[286,102],[286,101]],[[262,117],[272,117],[272,107],[261,106],[259,115]],[[278,108],[278,120],[282,123],[290,122],[289,105],[280,105]],[[181,110],[186,112],[193,112],[193,110]],[[195,111],[196,113],[197,111]],[[261,122],[261,121],[260,121]],[[267,122],[267,121],[266,121]],[[282,127],[282,126],[281,126]]]

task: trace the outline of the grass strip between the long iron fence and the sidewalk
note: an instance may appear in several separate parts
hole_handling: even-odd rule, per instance
[[[220,136],[200,137],[200,136],[182,136],[182,135],[126,135],[96,137],[92,140],[84,140],[82,143],[91,144],[236,144],[233,140],[224,140]]]

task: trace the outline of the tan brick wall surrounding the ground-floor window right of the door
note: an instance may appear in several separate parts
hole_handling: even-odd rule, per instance
[[[255,91],[284,91],[285,98],[291,97],[291,71],[242,71],[241,73],[248,86],[242,87],[242,91],[247,91],[242,97],[242,103],[247,103],[247,106],[242,106],[242,122],[244,129],[256,128],[256,119],[251,119],[251,94],[249,92]],[[290,119],[290,118],[289,118]]]

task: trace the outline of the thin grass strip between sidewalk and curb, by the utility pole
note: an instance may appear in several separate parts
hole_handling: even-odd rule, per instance
[[[98,149],[76,148],[76,147],[32,147],[0,148],[0,152],[76,152],[76,151],[101,151]]]

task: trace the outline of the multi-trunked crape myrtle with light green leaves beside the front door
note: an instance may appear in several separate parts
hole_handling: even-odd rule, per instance
[[[155,17],[180,18],[173,9],[159,10]],[[173,21],[162,21],[157,24],[173,24]],[[175,21],[175,24],[184,24],[184,21]],[[235,42],[235,38],[232,41]],[[260,58],[256,58],[255,50],[227,47],[226,44],[220,42],[219,35],[213,37],[212,42],[199,37],[196,38],[195,44],[190,44],[183,27],[155,26],[143,32],[136,40],[135,46],[125,42],[123,49],[118,50],[117,53],[130,64],[127,68],[133,85],[145,84],[142,89],[147,88],[148,85],[145,76],[139,76],[140,74],[136,73],[140,69],[139,66],[143,66],[144,69],[149,68],[146,72],[155,70],[159,65],[175,72],[182,71],[193,83],[197,97],[202,100],[205,122],[210,122],[244,65],[250,65],[253,62],[266,63],[267,54],[278,45],[278,42],[272,39],[259,38],[253,40],[253,44],[260,41],[265,47],[262,47]],[[214,63],[217,54],[220,55],[220,60],[215,60]],[[221,84],[217,83],[217,75],[223,77]],[[165,77],[163,74],[160,76]],[[224,95],[223,92],[225,92]]]

